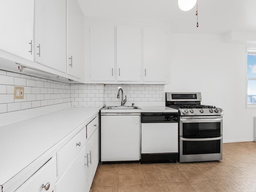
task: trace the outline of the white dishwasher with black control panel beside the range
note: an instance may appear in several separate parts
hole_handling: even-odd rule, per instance
[[[178,113],[141,113],[141,163],[176,162]]]

